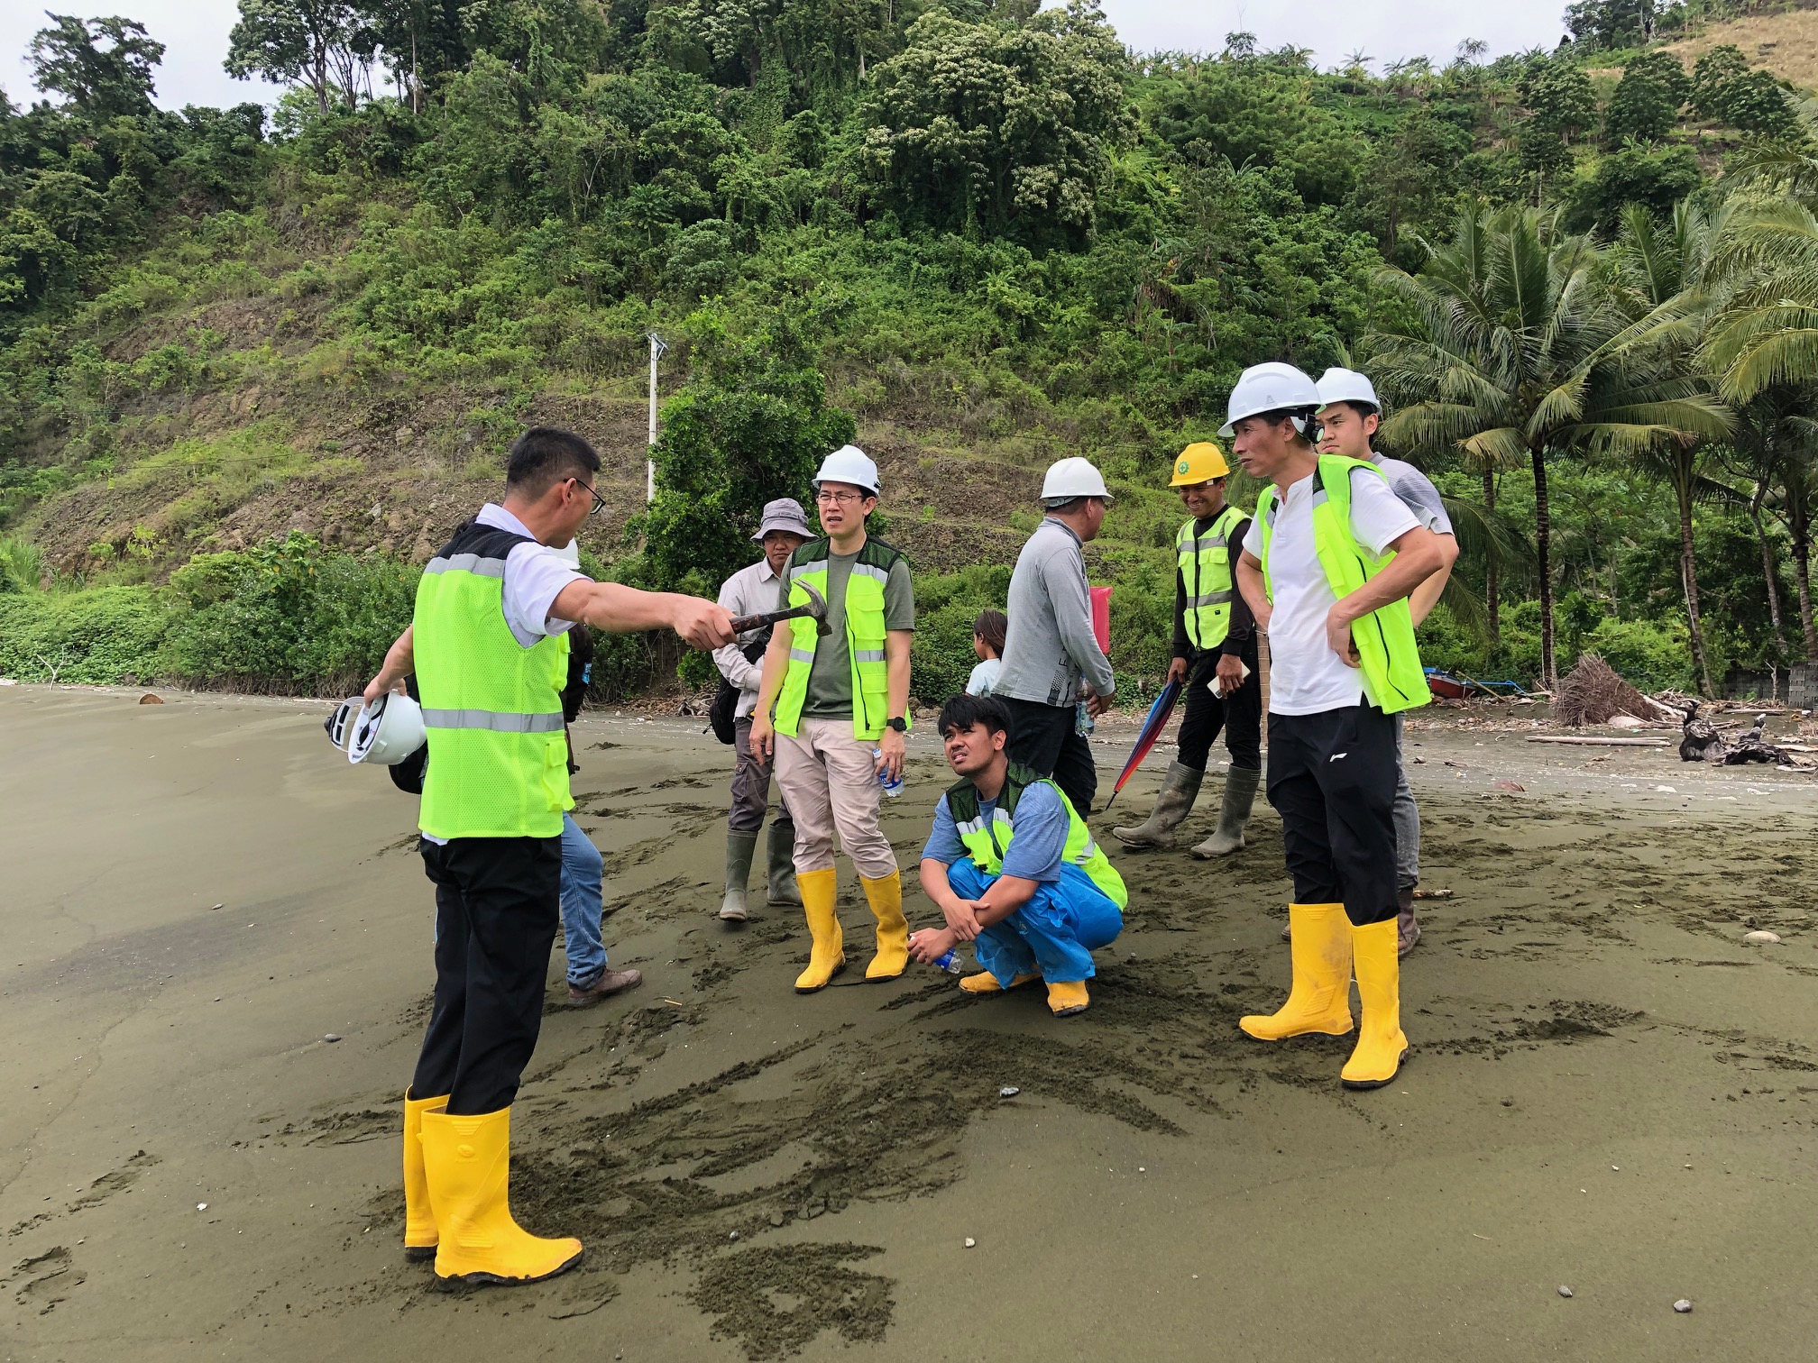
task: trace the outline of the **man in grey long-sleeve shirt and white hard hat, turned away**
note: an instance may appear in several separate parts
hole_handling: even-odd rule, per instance
[[[1087,460],[1060,460],[1042,480],[1047,518],[1016,556],[1011,574],[1004,671],[991,694],[1011,712],[1011,761],[1053,776],[1085,818],[1098,792],[1093,749],[1076,731],[1074,705],[1087,696],[1096,716],[1111,707],[1116,680],[1093,634],[1093,598],[1082,545],[1098,536],[1111,505],[1105,480]]]

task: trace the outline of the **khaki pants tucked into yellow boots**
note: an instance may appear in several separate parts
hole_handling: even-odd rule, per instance
[[[833,834],[865,880],[896,871],[896,852],[878,827],[878,785],[871,749],[853,738],[851,720],[802,720],[800,732],[776,734],[776,781],[796,823],[796,874],[833,867]]]

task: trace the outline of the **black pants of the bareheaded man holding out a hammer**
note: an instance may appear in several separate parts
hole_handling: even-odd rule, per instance
[[[449,1112],[511,1107],[544,1023],[562,918],[562,838],[424,840],[436,885],[436,1007],[411,1094]]]

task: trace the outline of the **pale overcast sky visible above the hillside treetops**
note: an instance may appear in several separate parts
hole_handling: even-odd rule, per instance
[[[51,7],[140,20],[167,47],[158,67],[158,104],[167,109],[276,98],[271,85],[222,71],[235,0],[51,0]],[[1104,0],[1104,9],[1136,51],[1216,53],[1227,33],[1249,29],[1264,47],[1311,47],[1322,67],[1362,47],[1380,71],[1398,56],[1449,60],[1465,38],[1487,42],[1491,56],[1553,47],[1563,33],[1565,0]],[[33,0],[0,4],[0,87],[15,105],[35,98],[25,45],[44,27],[42,11]]]

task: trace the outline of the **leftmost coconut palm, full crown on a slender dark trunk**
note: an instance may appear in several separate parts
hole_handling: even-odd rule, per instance
[[[1618,307],[1596,245],[1549,211],[1471,207],[1418,274],[1380,273],[1411,325],[1367,338],[1378,380],[1402,403],[1391,443],[1456,453],[1480,471],[1525,463],[1534,478],[1540,682],[1558,685],[1547,463],[1636,458],[1729,429],[1727,413],[1663,360]],[[1654,329],[1663,320],[1653,322]]]

